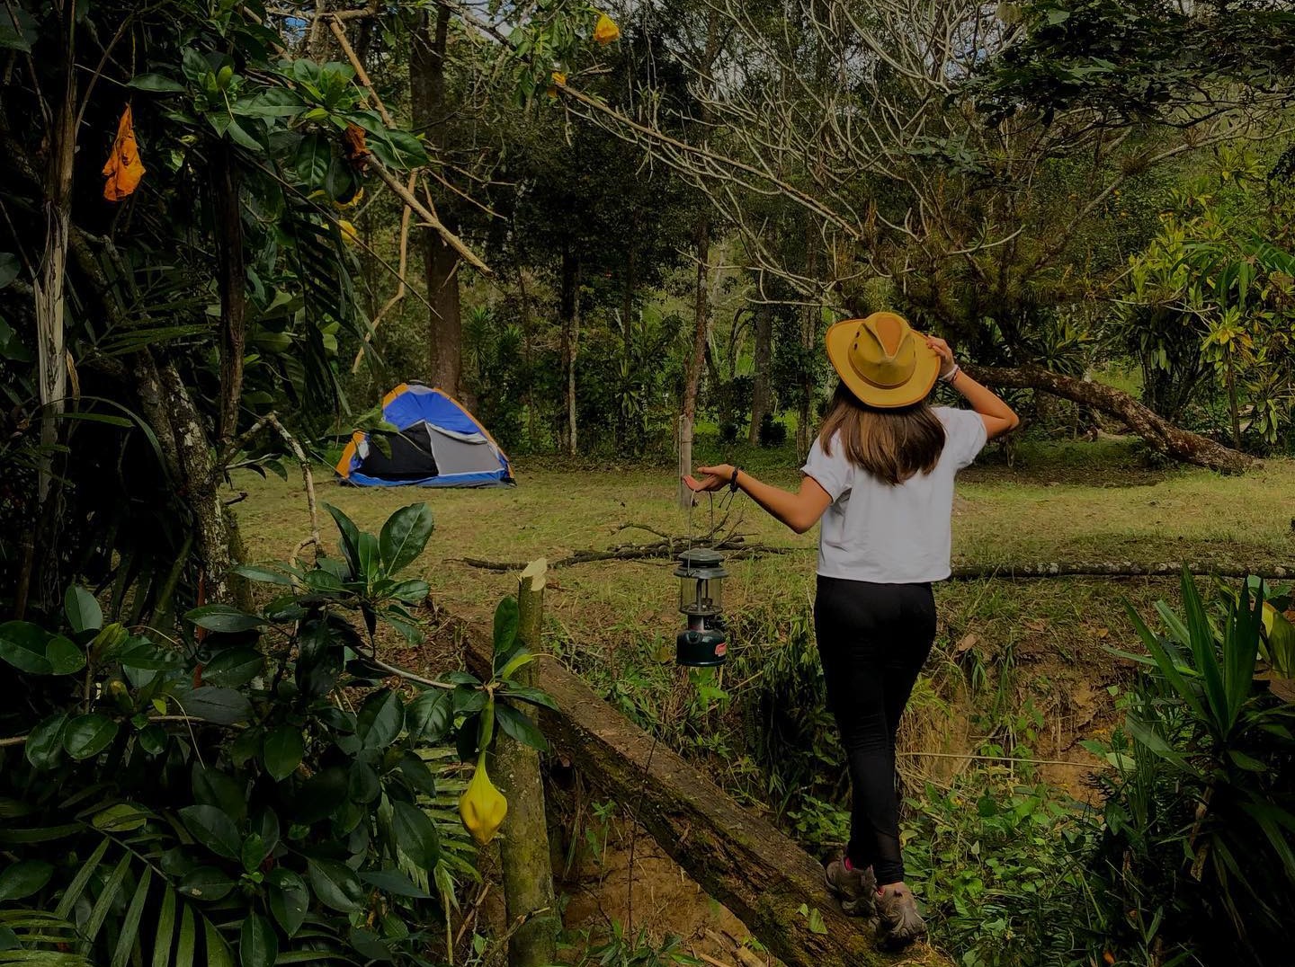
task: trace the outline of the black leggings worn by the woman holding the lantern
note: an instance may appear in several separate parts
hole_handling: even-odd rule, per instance
[[[878,884],[904,879],[899,848],[895,734],[917,673],[935,641],[930,584],[870,584],[818,577],[815,633],[828,702],[850,760],[852,866]]]

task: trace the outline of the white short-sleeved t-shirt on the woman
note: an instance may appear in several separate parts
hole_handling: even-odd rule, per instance
[[[815,440],[802,472],[831,497],[818,535],[818,573],[874,584],[923,584],[949,576],[953,478],[984,447],[984,421],[969,409],[936,406],[944,450],[929,474],[890,485]]]

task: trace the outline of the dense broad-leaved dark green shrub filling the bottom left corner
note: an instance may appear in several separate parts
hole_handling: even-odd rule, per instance
[[[399,669],[376,658],[377,623],[420,634],[408,606],[427,585],[399,572],[431,513],[373,535],[329,510],[341,559],[241,568],[284,594],[256,614],[194,608],[179,642],[105,627],[75,586],[62,628],[0,625],[21,696],[0,729],[22,733],[0,742],[0,961],[427,963],[475,850],[426,747],[471,757],[492,704],[543,744],[508,699],[548,699],[509,677],[528,659],[510,599],[488,687],[462,672],[413,698],[382,684]]]

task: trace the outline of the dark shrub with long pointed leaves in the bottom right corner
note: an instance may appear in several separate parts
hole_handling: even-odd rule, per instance
[[[1211,615],[1188,573],[1167,629],[1133,614],[1150,658],[1127,739],[1106,752],[1105,830],[1093,863],[1105,932],[1143,955],[1289,962],[1295,896],[1295,704],[1256,678],[1264,592],[1243,586]],[[1268,647],[1273,647],[1269,641]],[[1160,957],[1160,953],[1156,953]]]

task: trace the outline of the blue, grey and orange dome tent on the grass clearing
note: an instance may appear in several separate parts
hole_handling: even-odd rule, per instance
[[[356,431],[337,472],[356,487],[504,487],[513,467],[477,417],[439,388],[400,383],[382,400],[396,432]],[[391,456],[374,445],[382,432]]]

